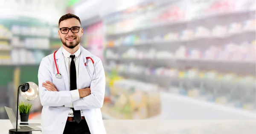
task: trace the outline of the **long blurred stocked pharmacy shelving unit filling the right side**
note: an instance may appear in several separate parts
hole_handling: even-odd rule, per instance
[[[154,15],[154,12],[158,9],[161,10],[161,8],[155,7],[155,9],[150,11],[153,12],[152,14]],[[149,15],[150,11],[145,13],[143,11],[133,13],[130,17],[129,15],[121,14],[119,16],[128,17],[121,17],[118,20],[114,19],[118,18],[114,16],[112,17],[113,20],[105,21],[105,26],[107,27],[105,35],[106,72],[109,73],[114,70],[119,75],[126,78],[156,83],[162,86],[165,89],[161,93],[162,96],[164,96],[162,103],[168,102],[163,104],[163,108],[166,109],[162,109],[163,115],[166,116],[164,118],[166,119],[255,119],[255,88],[249,89],[248,87],[244,87],[243,89],[250,90],[244,91],[251,94],[250,98],[252,99],[250,100],[250,106],[240,103],[237,104],[237,100],[234,100],[236,104],[230,103],[227,101],[228,98],[224,98],[224,102],[227,101],[224,103],[220,99],[223,99],[223,97],[218,98],[218,95],[215,96],[216,94],[212,96],[219,100],[193,96],[192,92],[189,90],[184,92],[184,89],[171,93],[170,88],[173,86],[173,81],[185,80],[185,82],[183,82],[183,88],[187,86],[186,84],[190,84],[189,86],[191,86],[193,81],[186,81],[186,77],[179,76],[180,73],[178,73],[176,77],[172,77],[164,73],[157,73],[156,70],[157,68],[176,68],[182,71],[183,74],[184,72],[186,74],[187,70],[197,68],[199,71],[218,71],[218,75],[221,74],[222,76],[230,73],[232,75],[241,75],[241,77],[255,77],[255,59],[248,58],[245,60],[239,56],[236,57],[241,51],[233,53],[233,57],[236,57],[234,59],[217,59],[214,56],[204,57],[206,51],[211,50],[209,49],[210,47],[221,48],[215,51],[228,50],[232,48],[230,47],[232,45],[228,46],[229,44],[241,45],[247,43],[251,45],[252,50],[255,49],[253,45],[255,45],[256,29],[255,24],[250,24],[252,22],[255,23],[255,10],[230,10],[201,15],[200,17],[190,20],[178,20],[176,22],[168,22],[168,19],[166,19],[166,21],[155,24],[151,24],[149,21],[150,19],[154,20]],[[136,17],[139,18],[143,15],[149,16],[148,20],[145,18],[144,21],[143,19],[141,21],[136,20]],[[130,20],[125,22],[125,19]],[[118,23],[119,25],[117,25]],[[181,49],[181,46],[186,50],[183,52],[184,54],[178,54],[177,52]],[[162,54],[157,53],[159,51],[161,51]],[[250,50],[247,48],[247,51]],[[222,52],[222,54],[228,53],[227,51]],[[166,53],[166,55],[163,53]],[[241,55],[244,56],[243,54]],[[255,57],[255,50],[252,52],[251,57]],[[120,65],[122,67],[120,67]],[[217,80],[217,77],[213,80]],[[214,82],[212,81],[212,83]],[[179,85],[178,82],[175,84]],[[211,86],[214,87],[215,85],[212,84]],[[226,90],[227,86],[228,84],[226,87],[223,86],[223,88]],[[220,90],[221,88],[218,89],[218,91]],[[231,91],[230,94],[234,95],[234,91]],[[240,95],[243,96],[245,94]],[[204,112],[208,115],[205,115]],[[181,114],[183,116],[177,116]],[[113,117],[110,117],[106,113],[103,115],[105,115],[106,118],[113,119]]]

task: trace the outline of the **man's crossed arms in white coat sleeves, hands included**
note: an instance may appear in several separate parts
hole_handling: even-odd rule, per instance
[[[60,91],[52,84],[52,74],[49,71],[49,59],[44,58],[38,70],[41,105],[63,106],[73,103],[75,110],[102,108],[105,95],[105,71],[100,59],[95,62],[95,68],[97,68],[96,74],[99,74],[99,79],[94,80],[90,84],[90,88],[78,89],[79,99],[72,100],[72,91]]]

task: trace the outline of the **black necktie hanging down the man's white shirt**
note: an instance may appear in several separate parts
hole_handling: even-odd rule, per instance
[[[70,55],[71,57],[71,63],[70,63],[70,91],[77,89],[76,87],[76,64],[74,61],[75,55]],[[77,123],[80,123],[81,121],[81,111],[80,110],[74,110],[72,108],[73,114],[74,114],[74,120]]]

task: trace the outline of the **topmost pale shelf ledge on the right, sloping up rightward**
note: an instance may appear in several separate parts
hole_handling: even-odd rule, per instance
[[[225,13],[215,13],[207,16],[202,16],[198,18],[194,18],[193,20],[181,20],[181,21],[176,21],[176,22],[163,22],[155,25],[150,25],[150,26],[139,26],[139,29],[134,28],[133,30],[130,31],[123,31],[123,32],[116,32],[116,33],[106,33],[107,37],[112,37],[112,36],[121,36],[124,34],[131,34],[135,32],[140,32],[140,31],[146,31],[146,30],[152,30],[152,29],[159,29],[160,27],[170,27],[170,26],[177,26],[177,25],[186,25],[187,23],[195,23],[195,22],[205,22],[203,20],[209,20],[210,18],[215,18],[215,17],[227,17],[229,15],[246,15],[248,13],[255,13],[255,11],[230,11],[230,12],[225,12]]]

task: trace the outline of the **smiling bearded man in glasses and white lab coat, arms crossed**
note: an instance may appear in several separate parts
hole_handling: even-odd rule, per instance
[[[58,30],[63,45],[41,61],[38,83],[43,105],[42,134],[106,133],[100,110],[105,71],[99,57],[80,46],[82,35],[79,17],[63,15]],[[94,61],[95,70],[87,57]]]

